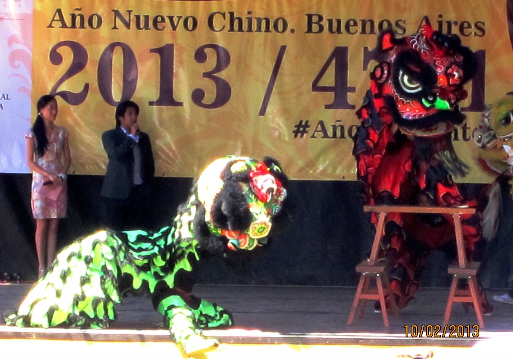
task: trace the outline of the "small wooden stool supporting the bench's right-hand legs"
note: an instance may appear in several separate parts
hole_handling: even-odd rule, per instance
[[[453,303],[471,303],[476,310],[480,328],[484,328],[483,313],[481,312],[481,303],[479,301],[479,286],[477,273],[479,262],[466,263],[464,268],[459,263],[453,263],[449,266],[449,274],[452,275],[449,299],[445,309],[444,325],[449,323],[450,313]],[[464,279],[468,282],[468,289],[457,289],[458,281]]]

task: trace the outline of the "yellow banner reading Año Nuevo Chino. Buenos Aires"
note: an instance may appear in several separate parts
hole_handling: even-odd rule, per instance
[[[377,34],[430,23],[483,65],[455,142],[466,181],[484,182],[471,133],[513,89],[507,12],[506,0],[34,0],[32,100],[57,95],[76,174],[105,173],[101,134],[132,99],[157,176],[193,177],[235,154],[274,157],[292,179],[355,179],[354,112]]]

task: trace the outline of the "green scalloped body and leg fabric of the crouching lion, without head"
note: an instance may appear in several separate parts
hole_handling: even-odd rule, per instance
[[[197,205],[192,194],[174,226],[158,232],[99,231],[71,243],[57,255],[18,310],[4,315],[6,325],[107,328],[116,317],[114,305],[121,303],[124,289],[152,294],[157,285],[173,289],[176,274],[193,272],[200,260],[198,240],[192,233]],[[128,288],[120,288],[122,277],[130,279]],[[190,320],[199,328],[231,324],[231,316],[223,308],[204,300],[198,308],[190,308],[178,295],[169,294],[161,302],[157,311],[169,327],[169,313],[177,307],[190,310]]]

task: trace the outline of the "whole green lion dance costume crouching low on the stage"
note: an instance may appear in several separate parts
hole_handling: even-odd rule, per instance
[[[266,243],[280,221],[287,178],[277,161],[228,156],[194,182],[172,226],[158,232],[99,231],[64,248],[18,310],[17,327],[107,328],[127,291],[149,292],[185,354],[214,349],[201,329],[232,325],[223,308],[191,295],[199,262]]]

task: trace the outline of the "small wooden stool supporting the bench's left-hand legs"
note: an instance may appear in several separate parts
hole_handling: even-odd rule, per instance
[[[394,314],[397,314],[397,307],[395,298],[393,295],[391,295],[392,291],[390,288],[388,275],[386,274],[385,263],[370,264],[369,260],[366,259],[358,264],[358,266],[356,266],[356,271],[361,273],[361,275],[360,281],[358,282],[356,295],[354,296],[353,304],[351,306],[351,311],[349,313],[349,319],[347,320],[347,325],[349,326],[352,324],[354,313],[356,313],[356,309],[360,300],[362,300],[360,318],[363,318],[367,300],[379,300],[381,304],[381,314],[383,315],[383,323],[385,324],[385,327],[388,327],[388,313],[385,304],[385,296],[389,295],[388,299],[390,302],[390,309]],[[377,288],[370,288],[370,281],[372,278],[376,279]]]

